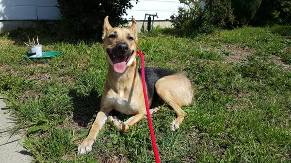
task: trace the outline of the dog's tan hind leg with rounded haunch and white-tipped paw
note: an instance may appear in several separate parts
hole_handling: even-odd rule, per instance
[[[186,116],[181,106],[190,105],[194,97],[191,82],[182,74],[173,74],[159,79],[155,88],[160,98],[176,111],[177,119],[171,124],[171,130],[175,131]]]

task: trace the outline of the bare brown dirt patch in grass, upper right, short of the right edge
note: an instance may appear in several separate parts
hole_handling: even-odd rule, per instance
[[[232,53],[226,56],[226,62],[230,63],[240,62],[247,56],[255,53],[255,50],[250,47],[239,47],[233,44],[223,45],[222,49],[227,49]]]

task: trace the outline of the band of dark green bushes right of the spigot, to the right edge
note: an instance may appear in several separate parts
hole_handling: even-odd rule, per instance
[[[181,35],[210,33],[213,28],[291,22],[290,0],[180,0],[185,7],[171,22]],[[204,5],[202,7],[201,5]]]

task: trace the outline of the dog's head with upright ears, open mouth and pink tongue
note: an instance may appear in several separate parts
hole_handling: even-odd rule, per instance
[[[136,56],[136,21],[132,20],[129,29],[113,28],[108,21],[108,16],[106,16],[102,39],[109,64],[113,66],[115,72],[123,73],[132,64]]]

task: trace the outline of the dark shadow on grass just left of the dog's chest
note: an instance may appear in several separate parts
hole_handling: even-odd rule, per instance
[[[86,127],[88,123],[94,121],[100,109],[101,95],[94,89],[84,96],[73,89],[69,92],[73,101],[73,120],[81,127]]]

